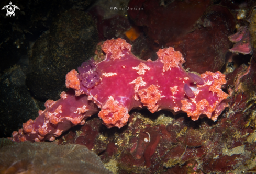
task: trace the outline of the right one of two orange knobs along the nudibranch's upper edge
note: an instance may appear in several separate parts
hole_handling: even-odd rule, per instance
[[[164,63],[164,71],[167,71],[172,67],[178,67],[179,64],[183,64],[185,62],[180,51],[175,51],[172,47],[159,49],[157,55],[160,61]]]

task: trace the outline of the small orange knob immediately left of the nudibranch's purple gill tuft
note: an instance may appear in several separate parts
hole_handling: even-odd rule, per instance
[[[80,89],[80,81],[77,77],[77,71],[75,71],[74,69],[66,74],[66,88],[72,88],[75,90]]]

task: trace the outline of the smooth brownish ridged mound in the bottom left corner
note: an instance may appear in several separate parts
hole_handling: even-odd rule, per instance
[[[101,159],[77,144],[23,142],[0,149],[1,173],[110,174]]]

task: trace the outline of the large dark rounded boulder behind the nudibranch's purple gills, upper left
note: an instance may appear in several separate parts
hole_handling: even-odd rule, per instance
[[[65,74],[92,56],[98,41],[92,17],[69,10],[53,22],[50,33],[36,41],[30,57],[27,85],[41,99],[57,99],[65,89]]]

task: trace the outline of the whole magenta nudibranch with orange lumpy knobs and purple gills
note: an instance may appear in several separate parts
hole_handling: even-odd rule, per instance
[[[52,141],[70,127],[84,124],[100,109],[103,124],[120,128],[135,108],[145,107],[152,113],[183,111],[192,120],[208,117],[216,121],[228,106],[228,94],[221,90],[225,75],[187,73],[182,54],[172,47],[160,49],[156,61],[138,59],[131,53],[131,45],[120,38],[105,41],[102,50],[105,60],[90,60],[78,68],[79,73],[72,70],[66,75],[66,87],[75,92],[62,92],[56,102],[48,100],[46,110],[39,111],[35,121],[29,120],[13,133],[14,141]]]

